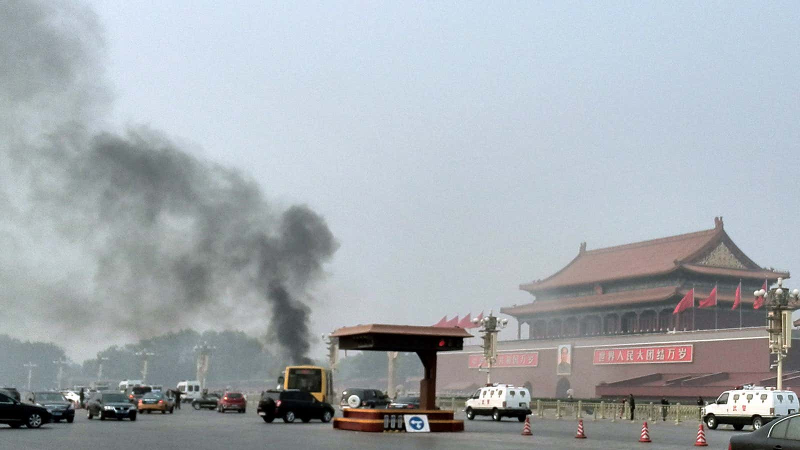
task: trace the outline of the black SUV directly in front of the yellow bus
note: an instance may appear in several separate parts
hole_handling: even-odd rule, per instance
[[[295,419],[309,422],[319,419],[330,422],[334,417],[334,407],[329,403],[317,400],[310,392],[297,389],[286,391],[265,391],[261,393],[258,401],[258,416],[266,423],[271,423],[276,417],[290,424]]]

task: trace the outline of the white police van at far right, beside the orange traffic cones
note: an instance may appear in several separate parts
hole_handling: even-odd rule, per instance
[[[708,428],[731,424],[735,430],[752,425],[754,430],[770,420],[798,412],[798,396],[792,391],[778,391],[762,386],[738,386],[702,408],[702,420]]]

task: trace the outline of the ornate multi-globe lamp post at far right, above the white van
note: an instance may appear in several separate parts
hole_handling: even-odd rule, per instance
[[[783,389],[783,360],[792,346],[792,311],[800,307],[800,290],[789,291],[778,278],[778,287],[754,291],[756,297],[764,297],[766,307],[766,331],[770,333],[770,353],[776,356],[778,368],[778,390]]]

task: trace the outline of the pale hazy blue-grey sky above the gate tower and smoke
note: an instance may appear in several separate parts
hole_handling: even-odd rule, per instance
[[[715,215],[800,270],[798,2],[91,3],[110,129],[325,217],[317,333],[527,303],[581,241]]]

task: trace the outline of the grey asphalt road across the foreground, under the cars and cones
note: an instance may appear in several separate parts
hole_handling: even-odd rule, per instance
[[[87,450],[127,449],[235,449],[263,448],[446,448],[453,450],[486,448],[694,448],[696,424],[675,425],[656,422],[650,426],[652,444],[638,442],[641,422],[612,423],[608,420],[584,422],[588,439],[574,439],[574,420],[534,419],[534,436],[521,436],[517,420],[500,423],[487,418],[466,421],[461,433],[362,433],[334,430],[331,424],[314,420],[309,424],[266,424],[250,408],[246,414],[182,409],[175,414],[142,414],[135,422],[86,420],[78,411],[73,424],[46,424],[42,428],[13,429],[0,425],[2,450]],[[460,416],[463,416],[460,414]],[[463,418],[463,417],[461,417]],[[726,428],[726,429],[722,429]],[[728,446],[732,428],[706,430],[708,448]]]

